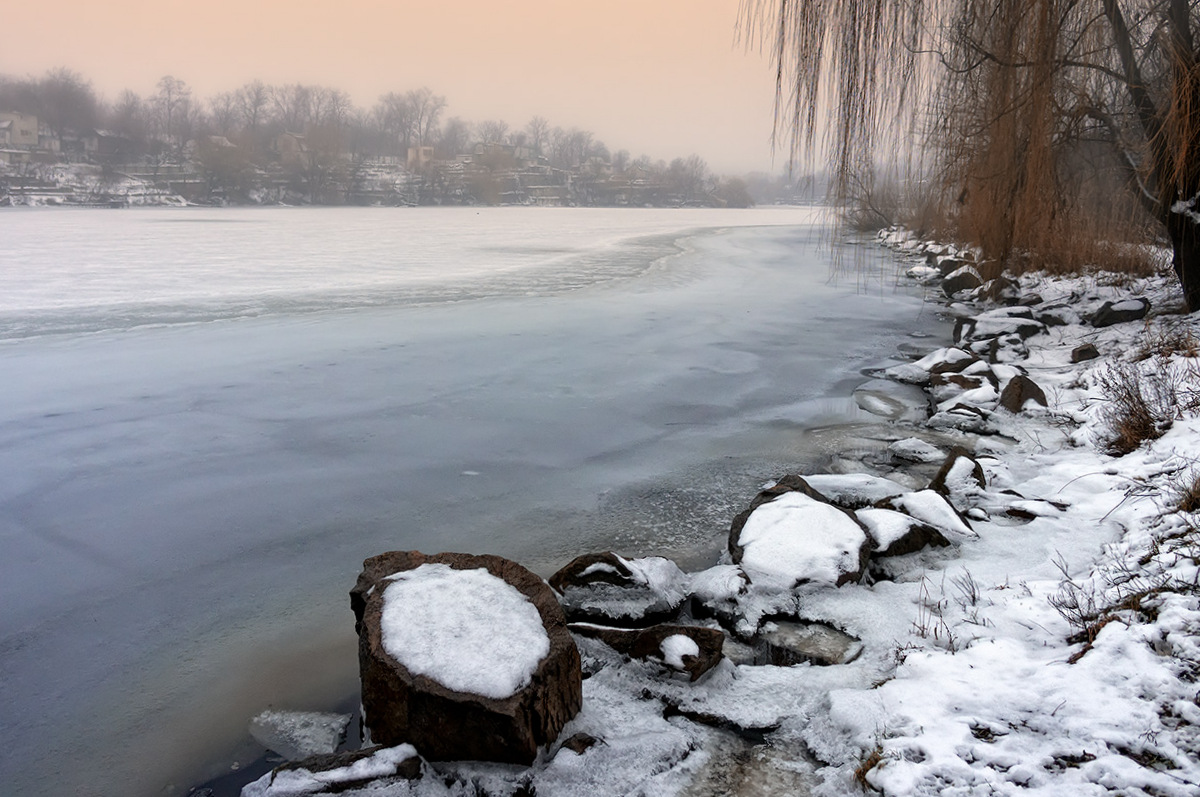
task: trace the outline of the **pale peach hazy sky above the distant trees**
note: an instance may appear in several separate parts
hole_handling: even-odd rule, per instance
[[[738,0],[13,2],[0,72],[67,66],[108,98],[163,74],[202,97],[253,78],[317,83],[365,107],[427,85],[448,115],[523,127],[540,114],[635,157],[772,170],[773,76],[737,23]]]

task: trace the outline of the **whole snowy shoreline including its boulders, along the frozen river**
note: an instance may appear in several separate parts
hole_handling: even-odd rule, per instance
[[[570,631],[582,708],[546,724],[530,766],[463,761],[497,759],[478,753],[467,719],[437,743],[390,733],[286,763],[242,795],[1200,786],[1200,498],[1170,492],[1200,484],[1186,461],[1200,451],[1196,322],[1152,313],[1171,301],[1162,280],[984,283],[970,253],[902,233],[883,242],[907,278],[944,295],[953,346],[907,347],[911,361],[860,385],[854,400],[886,425],[886,445],[838,457],[836,473],[763,485],[716,565],[596,552],[554,574],[557,605],[539,611]],[[1116,459],[1106,374],[1156,341],[1128,367],[1134,384],[1138,362],[1177,373],[1174,414]],[[433,562],[389,556],[419,557],[398,571]],[[367,577],[372,562],[360,623],[372,591],[383,601],[390,589],[382,570]],[[440,699],[479,703],[472,694]],[[572,701],[532,702],[562,714]],[[384,703],[366,690],[364,703],[374,731],[371,706]]]

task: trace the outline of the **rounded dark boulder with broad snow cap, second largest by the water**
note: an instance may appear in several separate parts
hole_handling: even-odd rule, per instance
[[[730,556],[750,582],[782,589],[862,580],[870,545],[852,513],[797,475],[760,492],[730,528]]]

